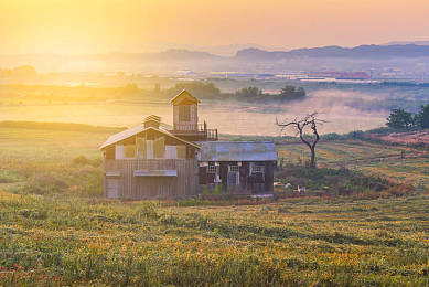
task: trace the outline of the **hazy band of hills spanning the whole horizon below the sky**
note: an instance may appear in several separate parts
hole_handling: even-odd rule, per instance
[[[210,73],[236,71],[277,73],[285,71],[383,71],[395,67],[408,74],[422,72],[429,65],[429,45],[323,46],[291,51],[267,51],[258,47],[239,50],[221,56],[206,51],[172,49],[151,53],[105,53],[90,55],[0,55],[0,68],[32,65],[46,72],[143,72],[172,74],[175,71]]]

